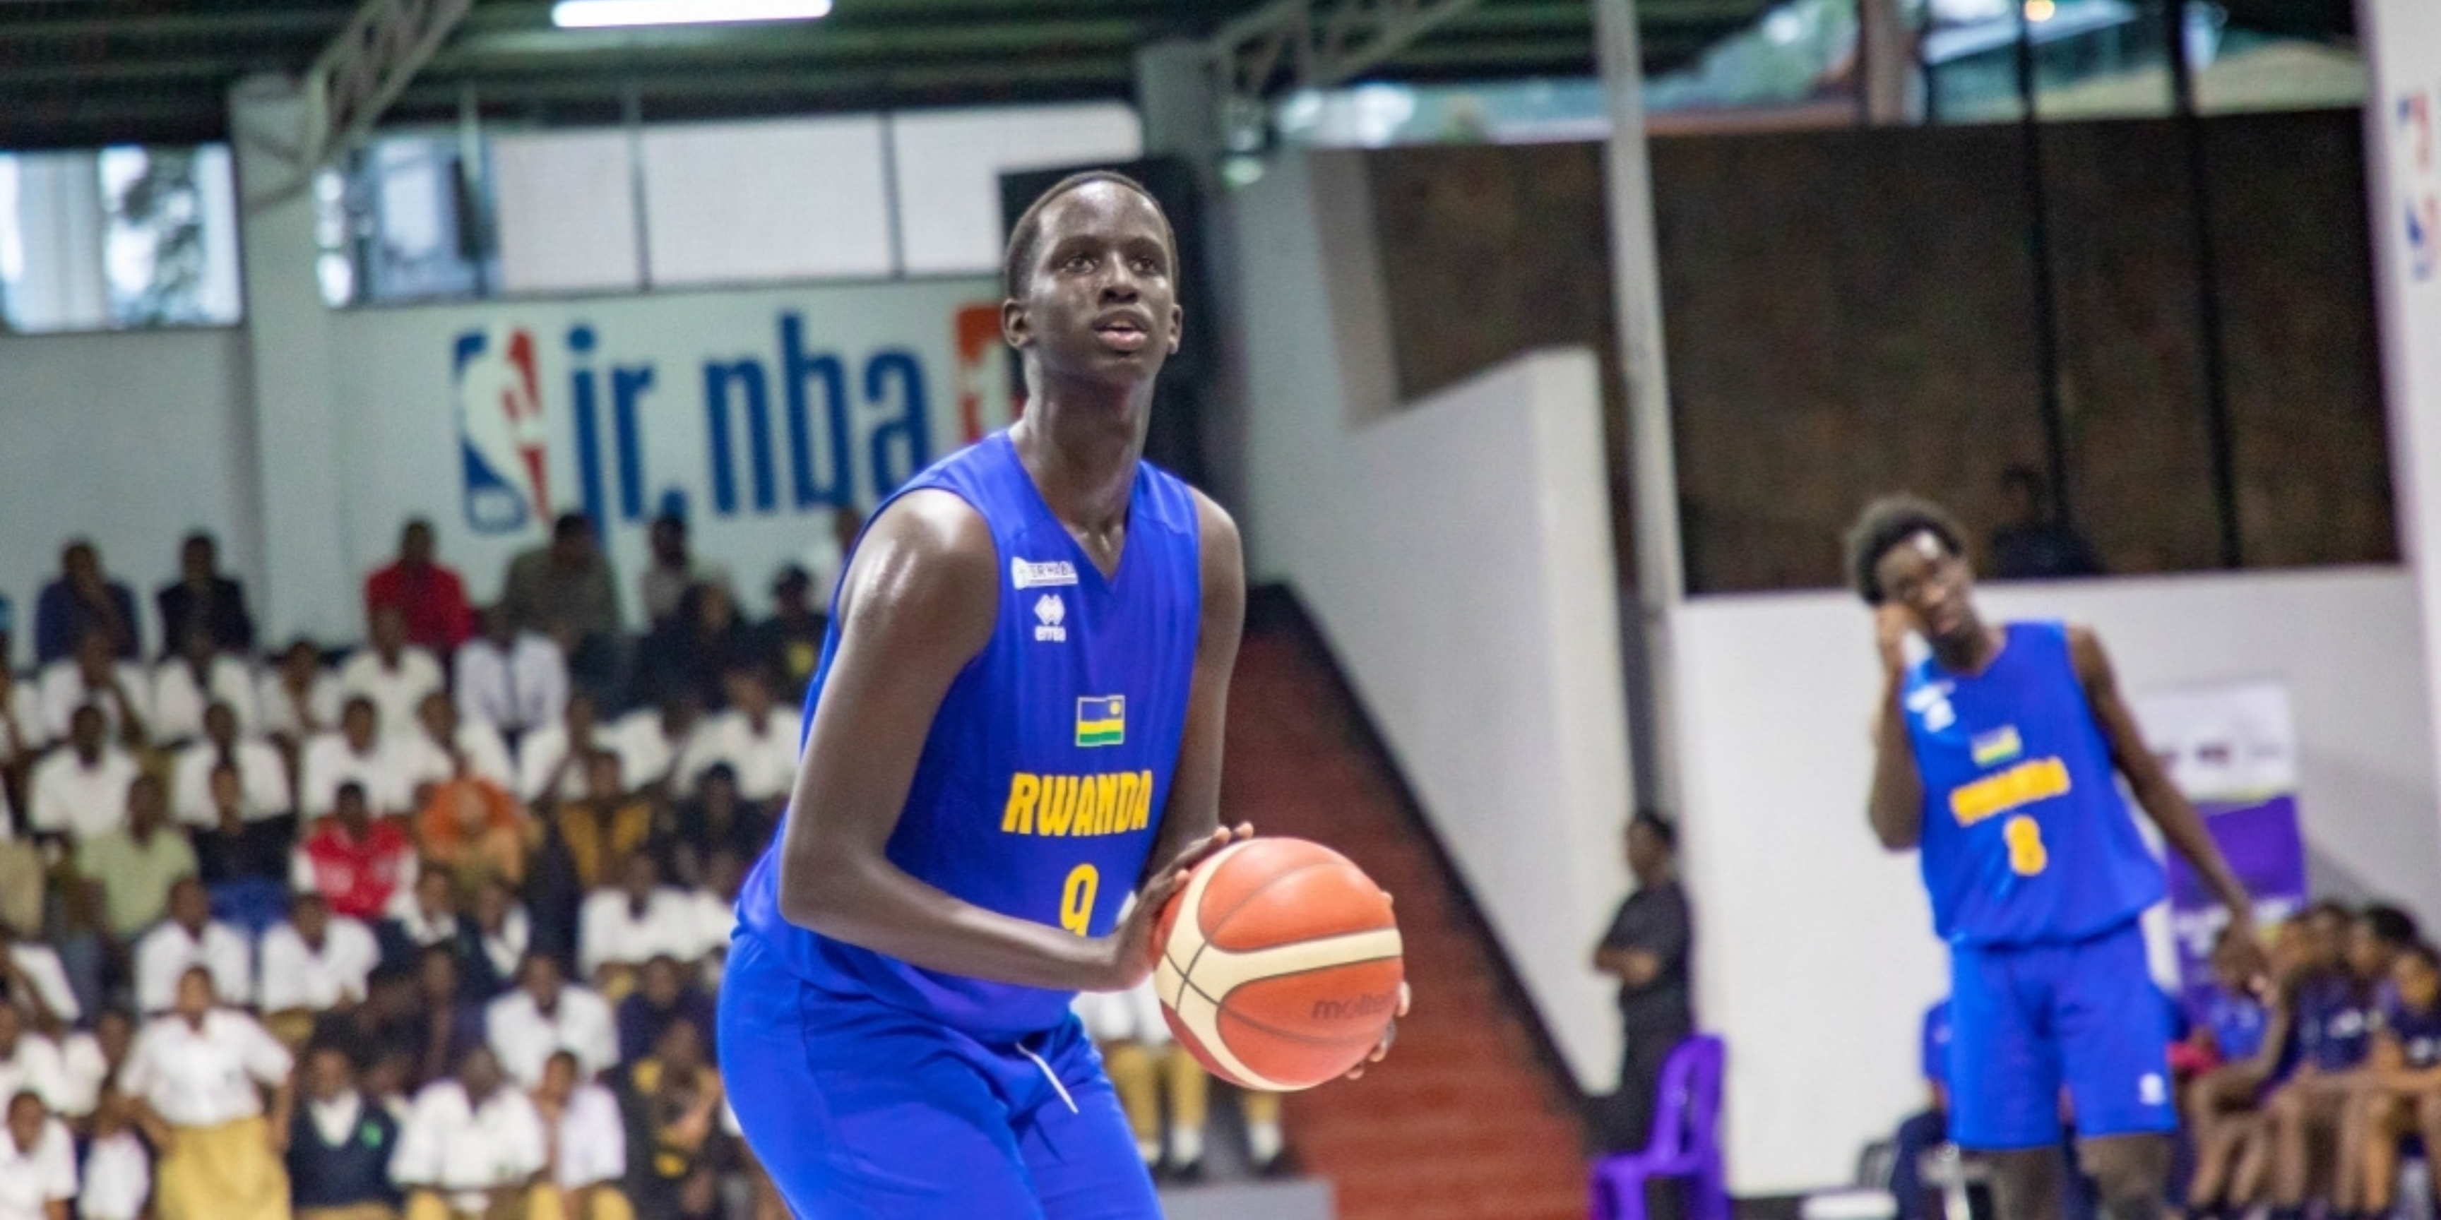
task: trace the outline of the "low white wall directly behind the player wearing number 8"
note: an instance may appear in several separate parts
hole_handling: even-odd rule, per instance
[[[2129,693],[2287,683],[2309,849],[2441,920],[2404,571],[1987,586],[1982,603],[2097,627]],[[1865,827],[1872,620],[1843,593],[1699,598],[1677,642],[1696,1013],[1731,1047],[1733,1186],[1845,1181],[1855,1152],[1919,1105],[1916,1022],[1948,988],[1914,856],[1882,854]]]

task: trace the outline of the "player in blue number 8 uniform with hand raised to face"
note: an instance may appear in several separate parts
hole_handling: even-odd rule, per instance
[[[1950,1139],[1992,1154],[2004,1220],[2048,1220],[2065,1103],[2107,1218],[2155,1220],[2177,1110],[2136,920],[2165,886],[2114,771],[2229,908],[2243,976],[2260,978],[2253,908],[2146,752],[2102,642],[2060,622],[1987,625],[1963,539],[1914,498],[1875,500],[1848,534],[1884,676],[1872,830],[1892,852],[1921,847],[1950,944]],[[1909,634],[1931,644],[1914,666]]]

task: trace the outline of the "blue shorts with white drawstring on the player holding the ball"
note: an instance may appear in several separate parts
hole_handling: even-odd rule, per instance
[[[791,974],[740,935],[720,978],[720,1076],[801,1220],[1157,1220],[1084,1027],[1018,1044]]]

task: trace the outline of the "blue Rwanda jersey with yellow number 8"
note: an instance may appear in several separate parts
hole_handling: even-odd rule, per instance
[[[1943,939],[2072,942],[2163,898],[2068,627],[2011,622],[1999,656],[1972,676],[1924,659],[1902,700],[1924,778],[1924,888]]]

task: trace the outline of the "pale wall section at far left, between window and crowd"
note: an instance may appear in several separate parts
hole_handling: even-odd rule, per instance
[[[17,664],[34,654],[34,595],[73,534],[144,603],[178,573],[188,529],[220,534],[247,571],[251,422],[237,329],[0,339],[0,593],[17,603]]]

